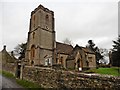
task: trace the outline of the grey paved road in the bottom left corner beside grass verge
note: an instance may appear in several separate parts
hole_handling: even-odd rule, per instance
[[[18,85],[15,80],[6,78],[0,74],[0,90],[2,88],[22,88],[22,87]]]

